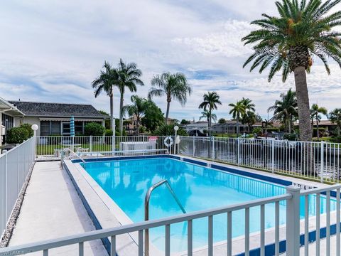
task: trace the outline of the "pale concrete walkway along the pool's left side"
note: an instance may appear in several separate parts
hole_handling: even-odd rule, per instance
[[[50,161],[34,166],[10,246],[95,230],[69,176],[59,165],[59,161]],[[107,255],[100,240],[84,246],[85,255]],[[50,250],[49,255],[78,255],[78,245]]]

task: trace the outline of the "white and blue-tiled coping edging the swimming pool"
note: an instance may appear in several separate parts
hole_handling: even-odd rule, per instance
[[[234,165],[229,165],[229,164],[221,164],[217,163],[214,161],[207,161],[207,160],[202,160],[202,159],[195,159],[189,156],[176,156],[176,155],[153,155],[153,156],[114,156],[114,157],[105,157],[105,158],[100,158],[100,159],[85,159],[86,162],[93,162],[93,161],[110,161],[110,160],[128,160],[128,159],[146,159],[146,158],[171,158],[171,159],[176,159],[179,161],[185,161],[190,164],[197,164],[200,166],[212,168],[212,169],[217,169],[218,171],[227,171],[231,174],[237,174],[237,175],[242,175],[242,176],[248,176],[250,178],[256,178],[261,181],[268,181],[271,183],[276,183],[281,186],[289,186],[292,184],[301,186],[303,188],[313,188],[313,187],[324,187],[328,186],[326,184],[318,183],[318,182],[313,182],[313,181],[306,181],[302,180],[300,178],[294,178],[294,177],[288,177],[285,176],[286,180],[283,180],[283,176],[278,175],[278,174],[271,174],[271,173],[264,173],[264,171],[258,171],[254,169],[247,169],[245,167],[240,167],[240,166],[234,166]],[[90,210],[90,217],[94,221],[94,225],[97,229],[102,229],[102,228],[112,228],[113,223],[115,224],[114,226],[119,226],[119,225],[126,225],[126,224],[131,224],[133,223],[131,219],[124,213],[119,206],[117,206],[116,203],[110,198],[107,193],[99,186],[99,184],[94,181],[94,179],[90,176],[90,174],[85,171],[85,169],[80,166],[81,161],[78,159],[75,160],[65,160],[65,169],[67,169],[68,174],[72,178],[72,176],[75,176],[75,178],[72,178],[72,183],[74,183],[75,186],[78,187],[76,188],[78,193],[83,194],[81,198],[83,197],[82,201],[83,203],[87,204],[86,206],[87,210]],[[289,180],[289,181],[288,181]],[[84,190],[85,193],[94,193],[92,197],[89,199],[84,196]],[[96,202],[97,201],[97,202]],[[102,205],[102,206],[101,206]],[[106,210],[109,213],[101,213],[103,210]],[[93,216],[92,216],[93,215]],[[102,215],[107,215],[106,218],[102,218]],[[111,215],[111,216],[109,216]],[[323,216],[323,215],[321,215]],[[332,216],[331,216],[332,217]],[[108,222],[109,218],[111,221]],[[310,233],[314,232],[314,225],[311,225],[314,223],[313,220],[315,217],[310,217],[309,218],[309,230]],[[331,220],[334,220],[336,218],[331,218]],[[302,223],[303,221],[303,223]],[[97,223],[97,224],[95,224]],[[332,223],[332,222],[331,222]],[[323,221],[321,221],[321,227],[323,227]],[[286,238],[286,230],[285,230],[286,225],[281,225],[280,227],[280,247],[283,250],[285,249],[285,238]],[[301,228],[304,227],[304,219],[301,220]],[[321,228],[322,230],[323,228]],[[272,237],[272,241],[274,240],[274,228],[269,228],[266,229],[266,236],[265,237]],[[311,234],[313,236],[313,234]],[[266,239],[267,240],[267,239]],[[109,250],[109,240],[102,240],[104,243],[104,246],[106,246],[107,250]],[[126,235],[126,238],[119,240],[117,239],[117,244],[120,244],[123,242],[125,245],[128,245],[128,247],[125,247],[124,249],[127,249],[127,252],[129,252],[128,255],[131,255],[131,252],[135,251],[137,252],[138,246],[136,241],[138,241],[137,234],[136,233],[131,233],[129,235]],[[239,247],[239,250],[234,251],[234,255],[243,255],[244,249],[244,235],[239,236],[237,238],[233,238],[233,243],[239,244],[241,246]],[[220,241],[220,242],[215,242],[214,244],[214,249],[217,250],[219,247],[226,247],[226,240],[225,241]],[[271,243],[266,243],[266,246],[269,247],[271,246]],[[236,246],[234,246],[236,247]],[[259,232],[252,233],[250,234],[250,252],[252,250],[259,250]],[[281,250],[281,251],[282,251]],[[118,255],[124,256],[126,250],[117,250]],[[207,251],[207,246],[203,247],[196,247],[193,249],[193,255],[205,255]],[[155,246],[151,244],[151,255],[153,255],[153,252],[161,252],[158,250]],[[200,252],[203,252],[200,254]],[[162,252],[163,253],[163,252]],[[172,255],[186,255],[187,253],[185,252],[175,252]],[[159,254],[158,254],[159,255]],[[267,254],[266,254],[267,255]]]

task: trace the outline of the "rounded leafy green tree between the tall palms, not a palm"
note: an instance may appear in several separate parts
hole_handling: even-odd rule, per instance
[[[144,117],[141,119],[141,123],[150,132],[154,132],[161,124],[163,124],[165,117],[161,109],[156,106],[154,102],[148,100],[148,107],[144,113]]]

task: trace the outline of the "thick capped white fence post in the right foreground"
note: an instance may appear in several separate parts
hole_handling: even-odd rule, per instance
[[[300,190],[297,186],[286,187],[293,198],[286,201],[286,255],[300,255]]]

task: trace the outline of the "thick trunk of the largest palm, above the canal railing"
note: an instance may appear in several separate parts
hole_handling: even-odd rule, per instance
[[[300,139],[303,142],[311,142],[312,131],[310,126],[309,95],[305,68],[295,68],[293,73],[295,75]]]

